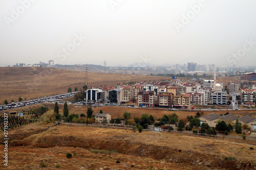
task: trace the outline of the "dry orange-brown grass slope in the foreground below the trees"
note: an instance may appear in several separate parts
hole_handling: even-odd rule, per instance
[[[167,132],[59,125],[18,141],[11,140],[9,169],[40,169],[40,162],[44,162],[46,169],[240,169],[238,164],[250,169],[244,163],[256,161],[256,151],[250,147]],[[67,153],[73,154],[71,159],[66,158]],[[0,154],[4,155],[3,145]],[[225,160],[231,157],[241,161]]]

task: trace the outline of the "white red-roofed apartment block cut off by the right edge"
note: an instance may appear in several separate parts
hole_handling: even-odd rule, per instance
[[[255,103],[256,102],[256,89],[241,88],[241,103]]]

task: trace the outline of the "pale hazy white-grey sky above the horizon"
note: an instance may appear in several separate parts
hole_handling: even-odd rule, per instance
[[[0,0],[0,66],[255,66],[255,7],[255,0]]]

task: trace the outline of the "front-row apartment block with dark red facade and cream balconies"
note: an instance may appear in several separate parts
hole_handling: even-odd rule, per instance
[[[138,93],[138,105],[141,106],[142,104],[148,107],[154,107],[156,101],[156,91],[149,90],[141,90]]]

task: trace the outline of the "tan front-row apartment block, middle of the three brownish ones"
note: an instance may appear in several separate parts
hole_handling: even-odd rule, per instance
[[[157,101],[159,107],[172,108],[174,94],[170,92],[159,92],[157,94]]]

